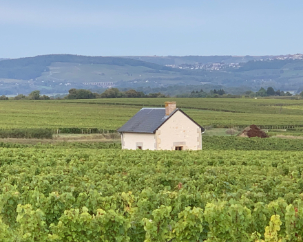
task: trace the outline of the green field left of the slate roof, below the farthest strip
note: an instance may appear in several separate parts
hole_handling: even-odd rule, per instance
[[[138,107],[8,101],[0,102],[0,128],[98,127],[116,129],[137,111]]]

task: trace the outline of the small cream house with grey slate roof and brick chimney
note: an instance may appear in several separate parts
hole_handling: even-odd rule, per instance
[[[118,129],[122,148],[130,150],[201,150],[204,131],[176,102],[143,108]]]

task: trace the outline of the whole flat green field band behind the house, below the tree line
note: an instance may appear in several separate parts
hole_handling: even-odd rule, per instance
[[[0,129],[79,127],[116,130],[140,108],[163,107],[166,100],[172,99],[202,126],[227,128],[256,124],[265,129],[282,129],[303,125],[302,100],[129,98],[3,101],[0,102]],[[282,109],[276,106],[281,103]]]

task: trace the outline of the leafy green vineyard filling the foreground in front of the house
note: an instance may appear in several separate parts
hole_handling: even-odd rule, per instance
[[[100,148],[1,148],[0,241],[302,240],[300,151]]]

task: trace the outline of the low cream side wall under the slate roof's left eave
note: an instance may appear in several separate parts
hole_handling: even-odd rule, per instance
[[[143,150],[156,149],[156,135],[154,133],[123,133],[123,149],[135,150],[136,143],[143,143]]]

